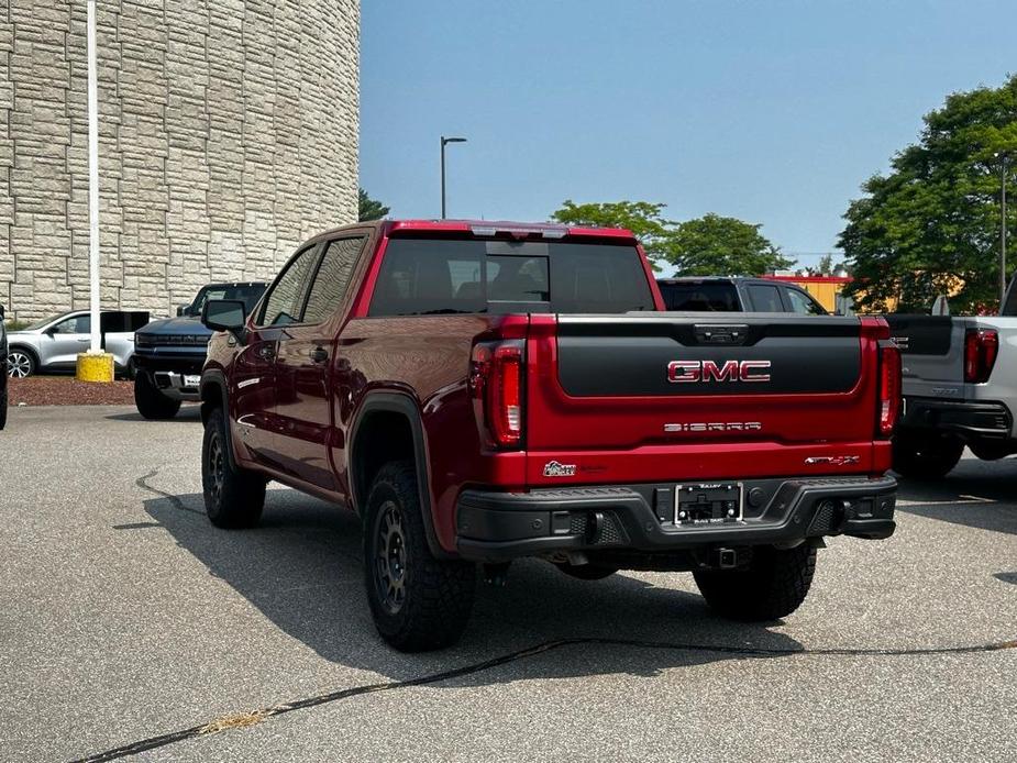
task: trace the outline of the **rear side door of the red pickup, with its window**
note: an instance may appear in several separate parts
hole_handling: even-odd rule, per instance
[[[338,333],[344,321],[347,286],[365,236],[323,244],[310,273],[298,321],[279,335],[275,360],[278,452],[283,467],[301,482],[341,490],[330,453],[333,442],[334,369],[341,365]]]

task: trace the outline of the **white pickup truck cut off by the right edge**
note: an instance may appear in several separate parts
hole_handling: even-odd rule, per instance
[[[900,347],[904,412],[894,436],[894,471],[938,478],[964,445],[979,458],[1017,453],[1017,294],[1001,316],[886,316]]]

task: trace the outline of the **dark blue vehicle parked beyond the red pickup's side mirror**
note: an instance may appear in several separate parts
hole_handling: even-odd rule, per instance
[[[146,419],[172,419],[185,400],[198,400],[201,366],[212,336],[201,323],[209,299],[236,299],[250,312],[265,292],[265,284],[209,284],[177,318],[147,323],[134,335],[134,405]]]

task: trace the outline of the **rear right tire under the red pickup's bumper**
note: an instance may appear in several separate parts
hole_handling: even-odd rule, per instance
[[[769,621],[795,611],[813,585],[816,549],[759,546],[744,570],[703,570],[693,575],[706,602],[732,620]]]

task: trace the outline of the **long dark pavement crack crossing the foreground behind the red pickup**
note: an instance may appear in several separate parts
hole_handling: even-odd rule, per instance
[[[942,646],[942,648],[929,648],[929,649],[764,649],[764,648],[753,648],[753,646],[726,646],[720,644],[696,644],[696,643],[677,643],[677,642],[666,642],[666,641],[640,641],[635,639],[609,639],[609,638],[570,638],[570,639],[557,639],[554,641],[545,641],[543,643],[537,644],[535,646],[530,646],[528,649],[519,650],[518,652],[510,652],[501,656],[493,657],[490,660],[485,660],[483,662],[474,663],[471,665],[464,665],[462,667],[456,667],[450,671],[443,671],[441,673],[432,673],[430,675],[419,676],[417,678],[409,678],[406,681],[390,681],[380,684],[364,684],[361,686],[353,686],[345,689],[339,689],[336,692],[330,692],[328,694],[320,694],[314,697],[306,697],[303,699],[297,699],[291,703],[284,703],[280,705],[274,705],[272,707],[261,708],[250,712],[234,714],[229,716],[223,716],[217,718],[208,723],[202,723],[201,726],[192,726],[189,729],[181,729],[179,731],[172,731],[166,734],[161,734],[158,737],[150,737],[148,739],[143,739],[136,742],[131,742],[130,744],[124,744],[119,748],[113,748],[104,752],[96,753],[87,758],[77,759],[76,763],[99,763],[100,761],[112,761],[118,758],[125,758],[126,755],[135,755],[140,752],[146,750],[154,750],[156,748],[166,747],[168,744],[175,744],[177,742],[183,742],[188,739],[194,739],[196,737],[202,737],[213,733],[219,733],[228,729],[233,728],[247,728],[256,726],[269,718],[275,716],[281,716],[287,712],[295,712],[297,710],[305,710],[307,708],[317,707],[319,705],[325,705],[328,703],[340,701],[343,699],[349,699],[351,697],[358,697],[365,694],[374,694],[378,692],[391,692],[396,689],[409,688],[413,686],[427,686],[429,684],[436,684],[444,681],[450,681],[452,678],[458,678],[462,676],[473,675],[484,671],[489,671],[495,667],[500,667],[501,665],[507,665],[509,663],[518,662],[520,660],[527,660],[540,654],[545,654],[553,650],[563,649],[565,646],[575,646],[575,645],[607,645],[607,646],[634,646],[639,649],[663,649],[663,650],[673,650],[673,651],[683,651],[683,652],[712,652],[719,654],[734,654],[740,656],[798,656],[798,655],[810,655],[810,656],[886,656],[886,657],[896,657],[896,656],[921,656],[921,655],[936,655],[936,654],[977,654],[983,652],[998,652],[1007,649],[1017,649],[1017,640],[1013,641],[1001,641],[995,643],[987,644],[974,644],[970,646]]]

